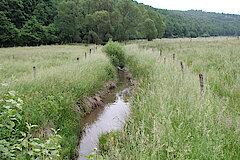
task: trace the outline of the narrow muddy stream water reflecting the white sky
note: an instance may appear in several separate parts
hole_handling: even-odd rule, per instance
[[[98,138],[102,134],[123,127],[130,114],[130,105],[125,99],[129,91],[129,82],[123,73],[119,73],[117,89],[112,90],[104,100],[105,105],[96,108],[84,118],[84,133],[80,140],[78,160],[87,159],[84,156],[98,148]]]

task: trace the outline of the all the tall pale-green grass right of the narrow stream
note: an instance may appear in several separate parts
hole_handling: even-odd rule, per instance
[[[240,116],[227,107],[240,109],[239,43],[223,37],[127,45],[128,67],[139,85],[129,122],[100,139],[104,158],[240,159]],[[183,73],[174,53],[185,62]]]

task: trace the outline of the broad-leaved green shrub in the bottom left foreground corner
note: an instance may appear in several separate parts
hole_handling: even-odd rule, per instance
[[[55,160],[60,157],[57,131],[49,138],[34,138],[36,125],[25,123],[23,101],[10,91],[0,95],[0,158],[1,159],[41,159]]]

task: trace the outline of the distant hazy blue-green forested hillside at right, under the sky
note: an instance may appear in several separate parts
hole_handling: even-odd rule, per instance
[[[239,36],[240,15],[159,9],[164,16],[164,37]]]

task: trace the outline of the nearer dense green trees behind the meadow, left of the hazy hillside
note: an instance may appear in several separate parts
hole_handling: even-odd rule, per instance
[[[2,0],[0,44],[102,44],[161,38],[165,24],[153,8],[132,0]]]

